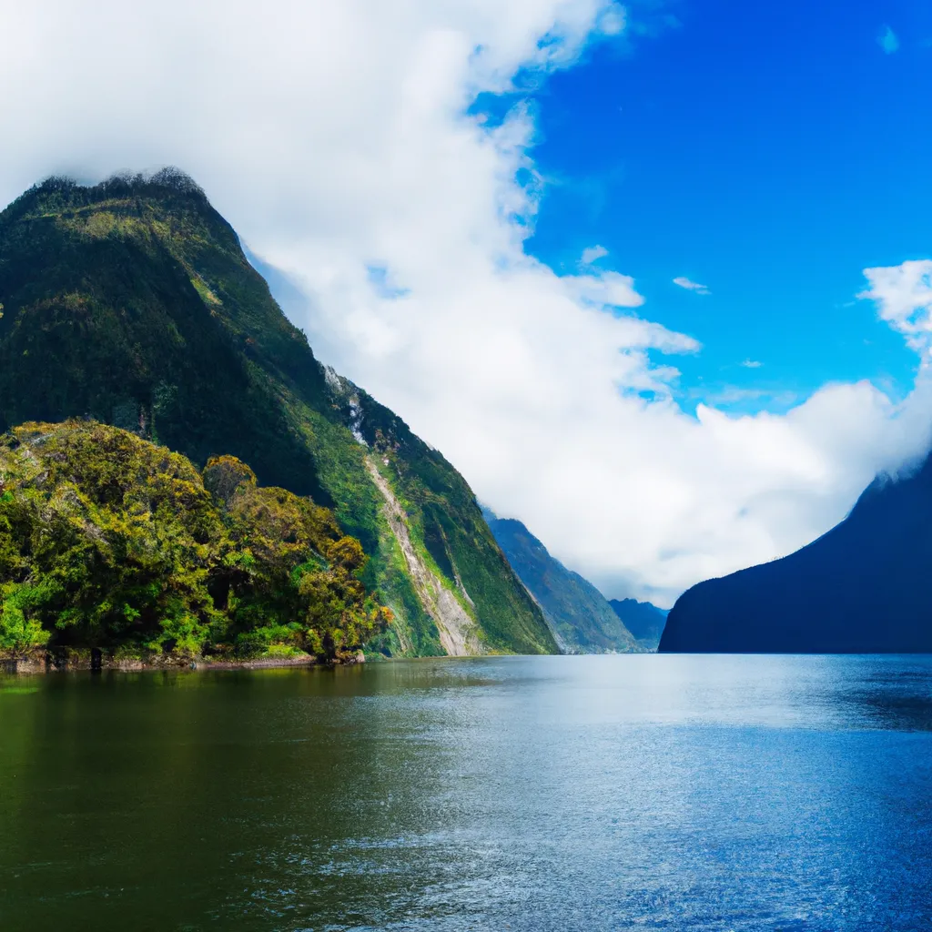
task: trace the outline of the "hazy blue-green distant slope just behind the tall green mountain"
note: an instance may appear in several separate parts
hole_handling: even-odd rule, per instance
[[[565,651],[637,651],[635,638],[592,583],[551,556],[520,521],[496,517],[488,509],[483,514]]]

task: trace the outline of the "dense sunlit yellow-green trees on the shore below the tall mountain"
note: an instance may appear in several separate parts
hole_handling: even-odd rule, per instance
[[[339,659],[391,621],[332,512],[95,422],[0,439],[0,651]]]

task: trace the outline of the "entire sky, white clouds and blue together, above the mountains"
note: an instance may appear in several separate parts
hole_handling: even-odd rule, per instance
[[[928,446],[930,75],[920,0],[0,0],[0,202],[188,171],[324,363],[668,607]]]

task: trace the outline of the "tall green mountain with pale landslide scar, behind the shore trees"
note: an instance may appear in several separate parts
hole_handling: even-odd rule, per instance
[[[66,418],[333,509],[394,615],[372,651],[557,650],[462,476],[315,359],[180,171],[49,179],[0,213],[0,431]]]

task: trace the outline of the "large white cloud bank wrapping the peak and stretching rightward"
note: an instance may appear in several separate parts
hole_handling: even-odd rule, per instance
[[[603,0],[5,4],[0,199],[54,171],[182,166],[308,295],[289,313],[325,362],[610,595],[668,602],[829,528],[925,444],[928,391],[682,410],[651,353],[702,335],[652,322],[622,271],[525,253],[533,118],[465,110],[519,69],[572,66],[621,16]]]

